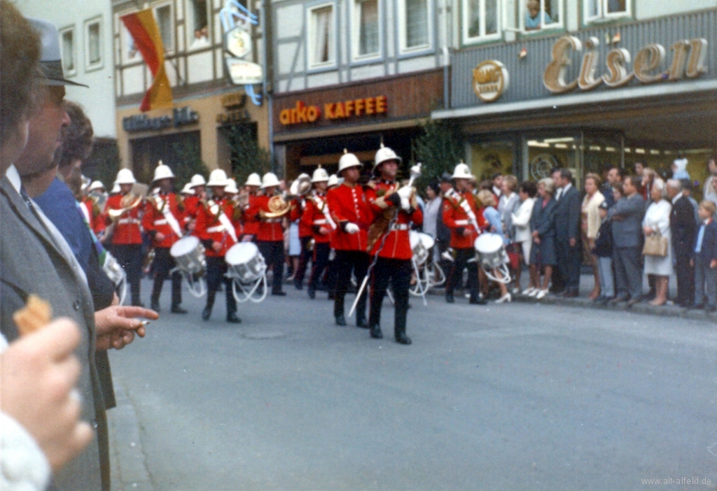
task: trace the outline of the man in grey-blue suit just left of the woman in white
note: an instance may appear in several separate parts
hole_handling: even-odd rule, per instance
[[[617,296],[611,303],[627,301],[632,307],[642,294],[642,218],[645,200],[637,192],[635,178],[627,176],[622,185],[615,186],[622,198],[608,211],[612,220],[613,266]],[[628,300],[630,298],[630,300]]]

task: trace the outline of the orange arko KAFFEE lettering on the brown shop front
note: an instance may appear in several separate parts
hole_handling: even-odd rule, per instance
[[[364,97],[343,102],[327,102],[323,110],[318,106],[307,106],[297,101],[295,107],[282,110],[279,121],[282,125],[298,125],[300,123],[313,123],[324,120],[345,120],[349,117],[366,117],[384,115],[389,110],[388,99],[385,95]]]

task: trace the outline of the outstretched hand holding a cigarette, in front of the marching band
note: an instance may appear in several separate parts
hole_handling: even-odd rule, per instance
[[[110,306],[95,312],[95,331],[97,343],[95,349],[123,349],[134,341],[134,336],[144,337],[144,325],[136,317],[159,319],[158,313],[148,308],[130,306]]]

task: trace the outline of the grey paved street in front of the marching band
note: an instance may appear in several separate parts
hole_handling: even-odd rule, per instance
[[[400,346],[390,306],[377,341],[287,289],[237,327],[222,296],[166,313],[166,283],[110,355],[115,490],[717,489],[709,321],[429,296]]]

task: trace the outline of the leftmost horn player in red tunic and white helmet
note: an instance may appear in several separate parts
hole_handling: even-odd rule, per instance
[[[129,169],[120,169],[115,181],[120,193],[107,199],[105,214],[108,225],[113,223],[110,253],[125,269],[127,283],[130,284],[132,305],[143,307],[140,301],[139,284],[142,276],[142,233],[140,230],[141,196],[130,191],[137,181]],[[125,210],[121,215],[110,218],[110,210]]]

